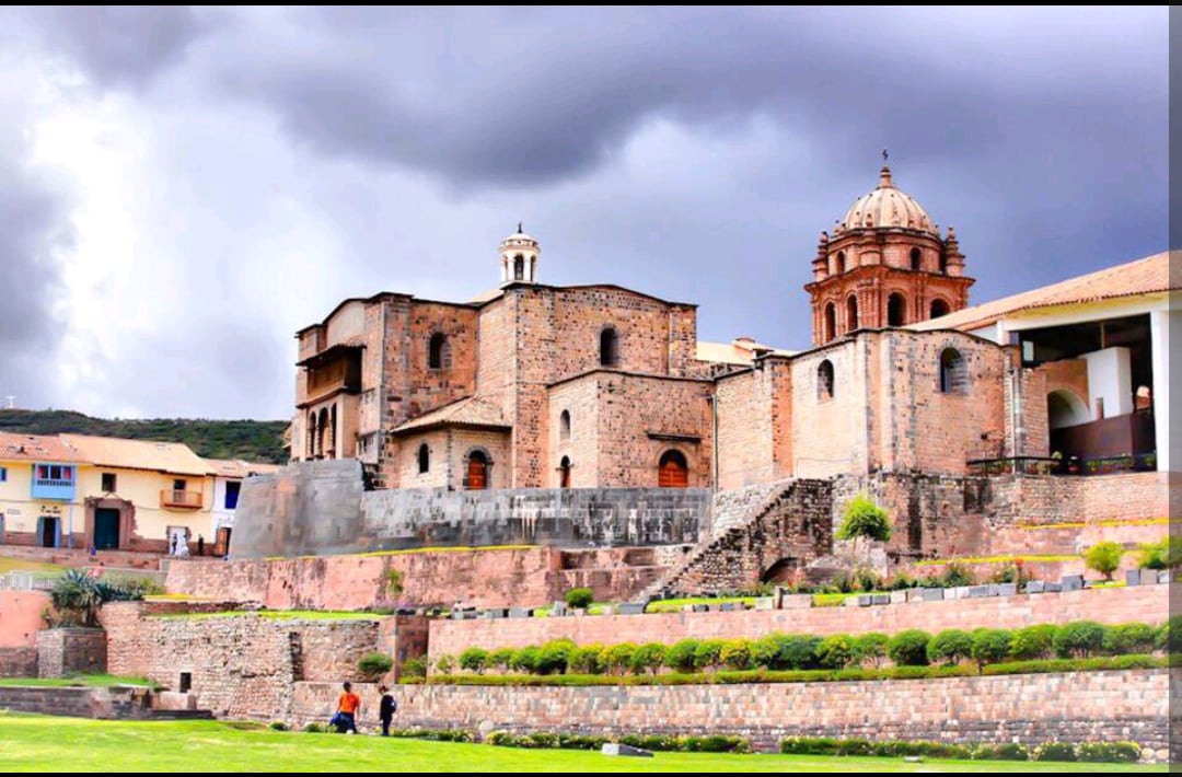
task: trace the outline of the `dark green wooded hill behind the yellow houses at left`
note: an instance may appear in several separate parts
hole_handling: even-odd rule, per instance
[[[0,432],[98,434],[132,440],[183,442],[199,457],[286,464],[287,421],[207,419],[92,419],[73,410],[0,410]]]

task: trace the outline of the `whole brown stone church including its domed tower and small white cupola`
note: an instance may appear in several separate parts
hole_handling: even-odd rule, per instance
[[[391,488],[728,490],[1047,453],[1013,347],[908,329],[973,280],[885,167],[821,235],[798,354],[699,343],[693,304],[545,285],[520,227],[498,253],[479,299],[346,299],[298,332],[293,460],[356,458]]]

